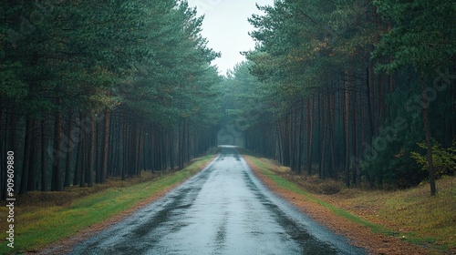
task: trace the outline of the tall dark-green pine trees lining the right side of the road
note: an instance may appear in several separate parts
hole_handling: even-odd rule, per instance
[[[257,44],[244,55],[260,81],[251,89],[274,109],[264,112],[274,157],[347,185],[409,187],[429,178],[435,194],[433,169],[423,172],[415,153],[426,140],[431,161],[431,138],[445,144],[437,150],[455,138],[455,7],[396,0],[258,6],[264,15],[249,19]],[[246,133],[263,132],[255,128]]]

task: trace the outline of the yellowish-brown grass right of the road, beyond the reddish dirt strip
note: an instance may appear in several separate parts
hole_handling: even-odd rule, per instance
[[[437,180],[438,195],[430,197],[427,183],[412,189],[354,189],[336,179],[297,175],[273,160],[261,160],[276,175],[291,180],[317,199],[385,226],[403,240],[456,252],[456,177]]]

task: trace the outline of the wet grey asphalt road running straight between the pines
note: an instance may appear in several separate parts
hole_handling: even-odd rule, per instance
[[[364,254],[277,198],[235,148],[71,254]]]

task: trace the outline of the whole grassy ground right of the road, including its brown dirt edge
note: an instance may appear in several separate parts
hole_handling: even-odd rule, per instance
[[[456,178],[408,190],[346,189],[296,175],[270,159],[245,156],[254,174],[309,217],[369,254],[456,254]]]

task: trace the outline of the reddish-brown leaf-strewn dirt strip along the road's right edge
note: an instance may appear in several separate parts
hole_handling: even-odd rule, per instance
[[[253,170],[254,175],[260,179],[268,189],[271,189],[283,199],[291,202],[297,209],[300,209],[321,225],[346,237],[352,245],[366,249],[368,254],[441,254],[441,251],[439,250],[427,249],[419,245],[399,240],[395,237],[373,233],[367,227],[339,217],[322,205],[309,201],[306,196],[279,187],[272,179],[265,176],[249,158],[244,156],[244,159]]]

